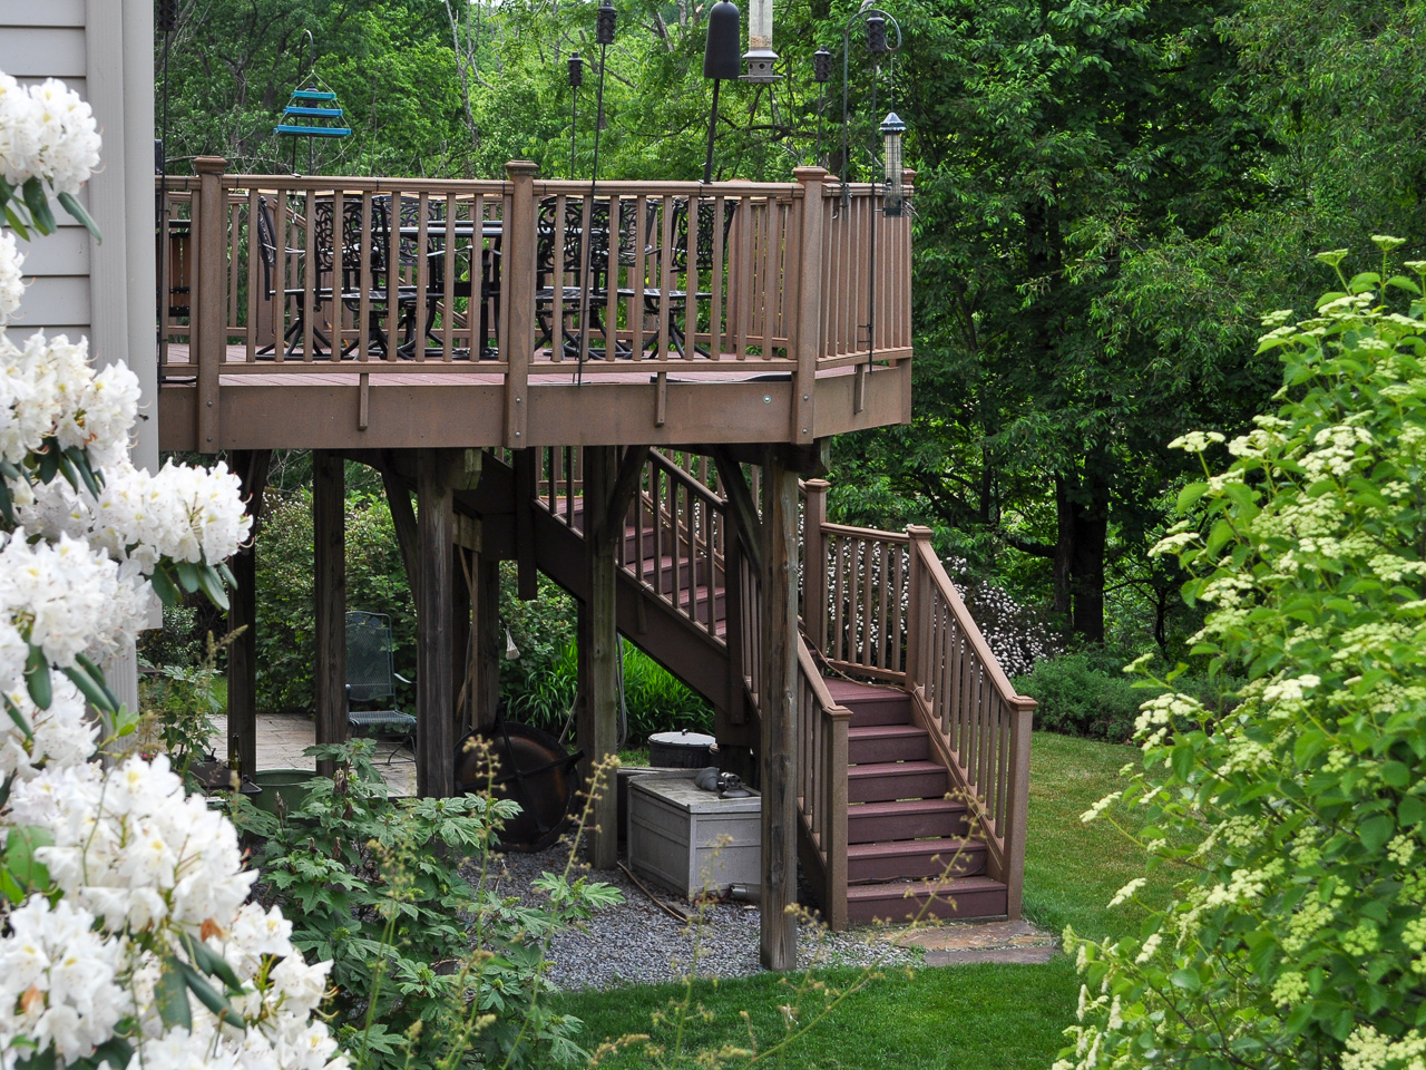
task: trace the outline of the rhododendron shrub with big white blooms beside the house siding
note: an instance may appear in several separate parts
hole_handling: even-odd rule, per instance
[[[87,221],[73,194],[97,161],[77,96],[0,74],[10,230],[53,231],[51,195]],[[93,659],[155,595],[225,603],[222,561],[248,532],[237,479],[137,471],[135,377],[91,368],[83,340],[11,338],[21,297],[0,230],[0,1067],[341,1067],[312,1017],[329,963],[247,902],[232,825],[164,758],[97,760],[133,716]]]

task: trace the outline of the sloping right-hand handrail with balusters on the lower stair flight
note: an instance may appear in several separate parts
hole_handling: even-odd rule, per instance
[[[950,766],[985,837],[987,870],[1005,883],[1020,916],[1030,809],[1030,733],[1035,700],[1017,693],[931,548],[931,529],[907,528],[911,544],[906,688],[931,745]]]

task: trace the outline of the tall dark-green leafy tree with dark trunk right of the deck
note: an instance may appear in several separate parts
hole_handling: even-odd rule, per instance
[[[868,455],[958,551],[1048,562],[1055,611],[1091,642],[1107,562],[1142,559],[1179,471],[1159,444],[1185,419],[1245,418],[1265,388],[1222,344],[1242,320],[1155,345],[1117,300],[1142,250],[1209,233],[1258,190],[1262,130],[1224,91],[1229,9],[1004,0],[904,19],[915,424]]]

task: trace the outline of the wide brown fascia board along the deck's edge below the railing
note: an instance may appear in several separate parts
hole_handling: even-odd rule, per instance
[[[173,345],[171,350],[180,350]],[[448,365],[449,367],[449,365]],[[667,367],[667,365],[660,365]],[[505,382],[498,372],[386,372],[362,377],[352,362],[304,374],[221,375],[218,442],[224,449],[412,449],[498,447],[505,442]],[[663,422],[650,362],[629,372],[586,375],[573,370],[532,374],[522,439],[540,445],[647,442],[791,442],[790,378],[757,378],[746,370],[669,368]],[[362,385],[362,378],[368,385]],[[365,397],[365,404],[364,404]],[[856,370],[819,371],[814,437],[904,424],[911,414],[910,360],[877,365],[856,407]],[[365,429],[362,417],[365,415]],[[161,449],[207,452],[198,439],[198,389],[167,382],[158,394]]]

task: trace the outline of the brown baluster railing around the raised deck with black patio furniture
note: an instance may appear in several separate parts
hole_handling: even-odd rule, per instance
[[[160,372],[197,377],[202,394],[220,372],[478,371],[506,382],[519,447],[532,375],[737,367],[807,381],[911,355],[910,217],[884,217],[873,185],[843,195],[821,168],[793,183],[605,181],[590,197],[523,163],[505,181],[224,165],[200,157],[164,193],[181,231],[165,288],[187,272],[191,300],[160,310]],[[810,442],[813,392],[791,394],[793,439]]]

